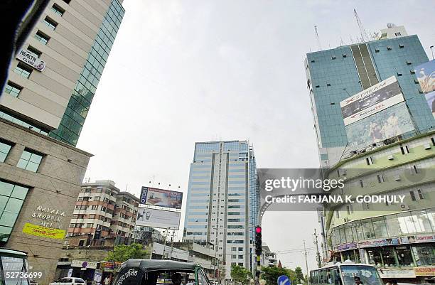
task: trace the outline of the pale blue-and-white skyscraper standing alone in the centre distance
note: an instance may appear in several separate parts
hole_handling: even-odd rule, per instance
[[[252,269],[258,210],[255,156],[249,142],[196,143],[183,239],[214,244],[230,278],[231,264]]]

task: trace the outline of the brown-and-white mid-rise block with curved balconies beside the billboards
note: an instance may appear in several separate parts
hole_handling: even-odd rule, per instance
[[[139,198],[119,190],[113,181],[84,183],[75,202],[73,219],[70,220],[68,237],[92,235],[92,244],[104,245],[112,237],[134,238],[134,225]]]

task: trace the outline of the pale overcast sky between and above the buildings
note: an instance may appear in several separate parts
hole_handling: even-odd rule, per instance
[[[249,139],[259,168],[316,168],[304,58],[392,22],[431,58],[431,1],[124,0],[122,26],[80,136],[91,181],[136,195],[149,181],[186,193],[195,141]],[[183,213],[184,213],[183,209]],[[182,220],[183,225],[183,220]],[[263,240],[286,267],[315,267],[315,213],[268,213]]]

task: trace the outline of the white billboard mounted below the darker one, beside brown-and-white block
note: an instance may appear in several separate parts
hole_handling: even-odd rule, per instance
[[[163,229],[178,230],[181,212],[139,208],[136,225],[145,227],[161,227]]]

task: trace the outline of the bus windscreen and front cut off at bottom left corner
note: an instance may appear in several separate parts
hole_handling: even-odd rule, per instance
[[[0,248],[0,285],[29,285],[26,252]]]

